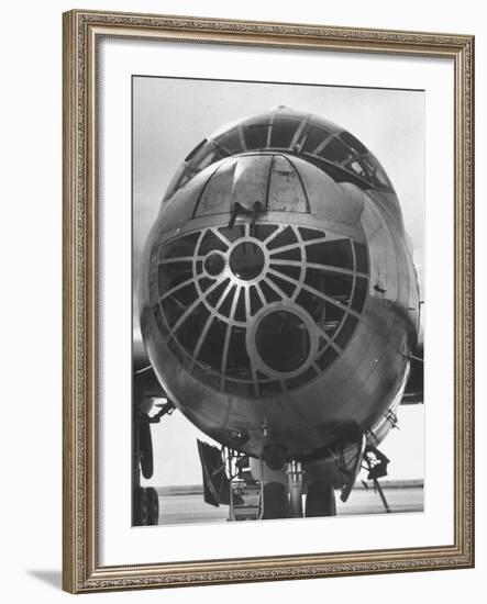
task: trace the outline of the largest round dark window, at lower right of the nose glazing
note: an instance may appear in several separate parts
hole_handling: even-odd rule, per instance
[[[280,373],[299,369],[308,359],[311,340],[308,327],[288,311],[274,311],[259,323],[255,344],[262,360]]]

